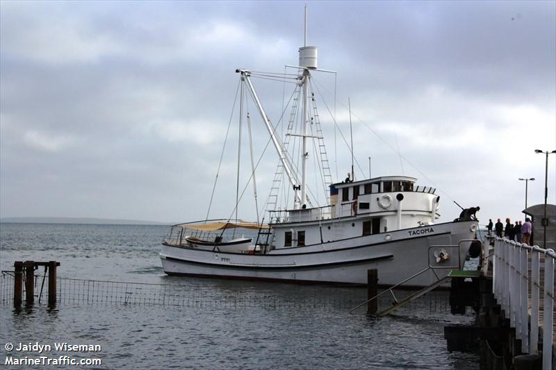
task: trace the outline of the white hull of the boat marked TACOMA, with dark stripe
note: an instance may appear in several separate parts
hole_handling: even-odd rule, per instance
[[[164,245],[163,269],[168,275],[211,276],[252,280],[287,280],[300,283],[367,283],[367,270],[377,269],[379,285],[423,287],[463,264],[477,230],[477,221],[436,224],[396,230],[289,249],[245,255]],[[458,244],[461,244],[457,247]],[[445,249],[448,260],[439,264],[434,251]]]

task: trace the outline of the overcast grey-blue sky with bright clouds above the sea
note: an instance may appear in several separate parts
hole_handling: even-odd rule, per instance
[[[1,1],[0,217],[204,219],[235,69],[297,65],[303,6]],[[452,201],[480,205],[484,223],[521,218],[520,177],[537,179],[528,204],[543,203],[545,157],[534,149],[556,149],[555,1],[309,1],[309,44],[319,67],[338,72],[345,135],[351,100],[366,176],[371,157],[373,176],[439,187],[441,221],[459,215]],[[333,110],[333,75],[314,79]],[[284,86],[254,83],[277,122]],[[268,137],[251,110],[258,156]],[[350,154],[339,139],[334,149],[324,103],[319,112],[342,180]],[[234,208],[230,135],[211,218]],[[256,175],[259,203],[275,172],[271,149]],[[555,203],[556,155],[548,167]],[[239,217],[253,219],[253,202],[242,203]]]

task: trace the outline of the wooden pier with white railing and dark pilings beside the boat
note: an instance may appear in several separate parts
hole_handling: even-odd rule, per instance
[[[455,311],[473,306],[477,325],[446,327],[448,350],[465,351],[469,344],[479,344],[481,369],[556,369],[556,253],[490,239],[493,254],[490,262],[484,258],[482,274],[474,279],[475,294],[461,294],[452,280]]]

